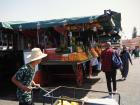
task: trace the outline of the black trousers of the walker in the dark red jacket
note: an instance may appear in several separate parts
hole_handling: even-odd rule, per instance
[[[109,72],[105,72],[105,75],[106,75],[106,81],[107,81],[107,88],[108,88],[108,92],[112,92],[112,83],[113,83],[113,91],[116,91],[116,73],[117,71],[116,70],[112,70],[112,71],[109,71]]]

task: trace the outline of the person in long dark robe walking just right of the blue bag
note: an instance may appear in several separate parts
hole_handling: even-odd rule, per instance
[[[123,67],[121,69],[122,80],[126,80],[126,77],[128,75],[128,71],[129,71],[129,61],[132,64],[132,60],[131,60],[130,54],[125,46],[123,47],[120,57],[121,57],[121,60],[123,63]]]

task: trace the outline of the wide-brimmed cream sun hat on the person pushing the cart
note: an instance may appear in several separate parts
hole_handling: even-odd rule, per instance
[[[28,63],[36,61],[36,60],[40,60],[40,59],[42,59],[42,58],[44,58],[46,56],[47,56],[47,54],[42,53],[40,48],[33,48],[31,50],[31,54],[29,54],[27,56]]]

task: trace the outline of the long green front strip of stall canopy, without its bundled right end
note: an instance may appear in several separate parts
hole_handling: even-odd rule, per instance
[[[28,22],[23,24],[12,24],[14,29],[19,29],[19,26],[22,25],[22,29],[37,29],[37,25],[39,28],[48,28],[48,27],[56,27],[56,26],[63,26],[67,24],[85,24],[89,23],[90,21],[97,19],[96,16],[90,17],[75,17],[75,18],[63,18],[63,19],[53,19],[53,20],[46,20],[46,21],[37,21],[37,22]]]

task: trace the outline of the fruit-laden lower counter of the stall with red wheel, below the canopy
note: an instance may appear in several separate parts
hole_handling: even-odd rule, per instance
[[[48,54],[40,64],[45,78],[42,80],[42,84],[48,85],[53,81],[60,82],[75,82],[77,86],[82,86],[86,77],[92,76],[91,59],[98,57],[101,53],[101,49],[98,49],[98,53],[92,48],[90,51],[83,51],[80,47],[77,47],[77,51],[69,53],[56,53],[57,49],[49,48],[44,50]]]

